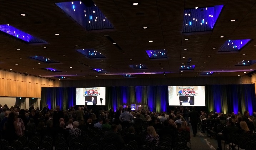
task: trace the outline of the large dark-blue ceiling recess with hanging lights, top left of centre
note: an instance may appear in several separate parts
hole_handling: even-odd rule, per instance
[[[86,6],[81,1],[56,3],[86,30],[114,29],[114,26],[96,5]]]

